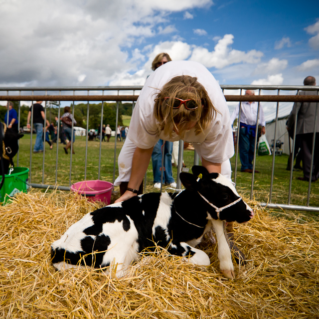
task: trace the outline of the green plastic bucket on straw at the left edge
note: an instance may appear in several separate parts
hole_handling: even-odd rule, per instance
[[[13,167],[11,174],[4,175],[4,182],[0,189],[0,203],[4,205],[16,193],[26,193],[29,188],[28,176],[29,168],[27,167]]]

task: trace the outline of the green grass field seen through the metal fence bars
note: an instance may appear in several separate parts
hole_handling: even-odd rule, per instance
[[[34,144],[35,136],[33,136]],[[63,145],[59,144],[58,157],[56,156],[56,144],[53,150],[49,150],[48,144],[45,146],[44,174],[43,183],[54,185],[69,186],[77,181],[84,179],[98,179],[113,182],[114,167],[114,141],[112,137],[110,143],[102,142],[101,165],[99,171],[99,141],[88,142],[86,150],[86,138],[76,137],[74,143],[75,154],[72,157],[71,179],[70,176],[70,154],[66,155]],[[19,142],[19,163],[18,166],[30,168],[30,135],[25,135]],[[123,142],[117,142],[116,159],[123,146]],[[33,149],[33,148],[32,148]],[[87,168],[85,171],[85,158],[87,157]],[[187,168],[193,165],[194,152],[184,151],[184,162]],[[15,163],[16,163],[15,158]],[[56,165],[57,160],[57,165]],[[286,170],[288,156],[276,156],[275,173],[272,192],[272,203],[288,204],[289,177],[290,171]],[[231,159],[234,170],[235,157]],[[254,180],[254,198],[257,201],[267,202],[270,192],[272,156],[262,156],[256,159],[256,169],[260,173],[255,174]],[[32,165],[30,169],[30,179],[32,183],[42,183],[43,154],[32,154]],[[115,165],[115,176],[118,175],[117,163]],[[240,163],[238,165],[240,169]],[[177,169],[173,167],[173,175],[176,179]],[[57,178],[56,178],[57,176]],[[302,171],[293,172],[291,204],[307,205],[308,182],[297,180],[298,176],[303,176]],[[236,187],[241,195],[250,197],[250,188],[252,183],[252,174],[237,171]],[[152,162],[147,171],[147,191],[154,191]],[[311,206],[319,206],[319,182],[312,183]]]

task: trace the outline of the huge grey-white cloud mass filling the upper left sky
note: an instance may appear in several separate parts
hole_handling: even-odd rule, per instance
[[[0,28],[0,84],[107,85],[115,74],[139,69],[130,48],[175,31],[169,13],[212,3],[2,0],[0,20],[7,27]]]

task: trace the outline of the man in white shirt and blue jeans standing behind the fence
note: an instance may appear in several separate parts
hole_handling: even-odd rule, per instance
[[[247,90],[245,95],[255,95],[252,90]],[[231,115],[231,123],[237,118],[239,114],[239,105],[236,106],[233,114]],[[255,132],[257,123],[258,102],[242,102],[241,103],[241,115],[239,129],[239,157],[241,162],[241,171],[252,173],[253,172],[253,160],[255,149]],[[262,126],[261,134],[265,134],[265,117],[262,106],[259,107],[259,123]],[[259,173],[258,170],[255,170]]]

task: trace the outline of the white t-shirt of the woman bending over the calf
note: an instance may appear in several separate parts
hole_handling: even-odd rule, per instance
[[[160,124],[153,112],[154,100],[159,90],[178,75],[197,77],[197,81],[204,86],[212,104],[218,110],[204,133],[195,135],[195,130],[191,129],[186,132],[184,142],[192,143],[205,160],[221,163],[230,159],[234,155],[234,142],[228,106],[213,75],[198,62],[170,61],[148,77],[133,111],[128,138],[141,149],[152,148],[159,139],[171,142],[180,140],[174,132],[172,138],[169,138],[160,131]]]

